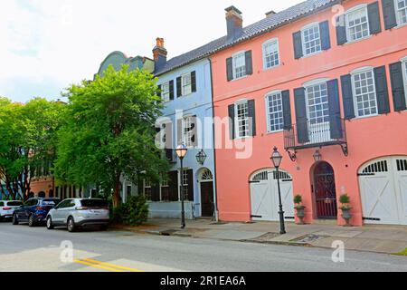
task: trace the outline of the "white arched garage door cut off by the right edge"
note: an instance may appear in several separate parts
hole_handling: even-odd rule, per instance
[[[407,157],[388,157],[359,172],[364,222],[407,225]]]

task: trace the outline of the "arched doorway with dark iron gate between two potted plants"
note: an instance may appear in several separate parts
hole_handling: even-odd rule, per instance
[[[337,218],[335,172],[332,166],[319,162],[313,170],[317,218]]]

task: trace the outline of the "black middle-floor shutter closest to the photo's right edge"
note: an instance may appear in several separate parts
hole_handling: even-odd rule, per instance
[[[407,92],[405,92],[404,82],[402,81],[401,62],[390,64],[390,78],[392,79],[394,111],[407,110],[407,105],[405,101],[405,94]]]

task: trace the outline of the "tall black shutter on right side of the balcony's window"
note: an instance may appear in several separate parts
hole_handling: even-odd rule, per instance
[[[341,108],[339,104],[339,86],[336,79],[327,82],[327,94],[331,138],[341,139],[343,137],[343,128],[341,121]]]

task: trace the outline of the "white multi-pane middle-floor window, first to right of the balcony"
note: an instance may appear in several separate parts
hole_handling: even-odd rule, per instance
[[[355,95],[355,111],[358,117],[377,114],[376,91],[373,70],[352,76]]]

